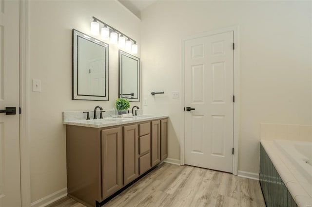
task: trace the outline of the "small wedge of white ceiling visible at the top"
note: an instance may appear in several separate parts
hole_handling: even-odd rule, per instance
[[[141,11],[152,5],[156,0],[118,0],[138,18],[141,18]]]

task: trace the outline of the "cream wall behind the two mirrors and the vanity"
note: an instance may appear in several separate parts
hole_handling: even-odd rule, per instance
[[[118,48],[109,42],[109,102],[72,97],[72,29],[90,35],[92,16],[137,40],[140,20],[115,0],[29,1],[30,80],[42,92],[29,93],[31,202],[66,188],[66,138],[62,111],[113,108],[118,96]],[[99,37],[98,37],[99,38]],[[139,48],[140,52],[140,48]],[[138,53],[136,56],[140,57]],[[136,103],[139,104],[139,103]]]

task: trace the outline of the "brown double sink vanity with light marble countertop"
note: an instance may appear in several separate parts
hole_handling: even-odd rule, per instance
[[[85,120],[63,112],[68,196],[101,206],[167,157],[168,116]]]

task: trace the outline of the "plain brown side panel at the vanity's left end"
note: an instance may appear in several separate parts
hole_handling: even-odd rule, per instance
[[[101,200],[99,130],[66,125],[67,192],[89,205]]]

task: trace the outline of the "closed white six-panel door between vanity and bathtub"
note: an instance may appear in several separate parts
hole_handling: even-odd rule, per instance
[[[185,164],[233,172],[233,31],[186,40]]]

